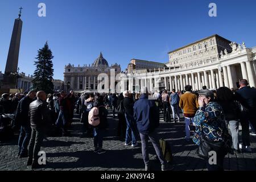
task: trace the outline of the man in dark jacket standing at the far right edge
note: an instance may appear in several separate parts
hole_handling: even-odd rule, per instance
[[[250,88],[247,80],[239,81],[240,89],[236,92],[236,99],[242,104],[241,125],[242,125],[242,150],[251,152],[249,121],[256,126],[256,89]]]

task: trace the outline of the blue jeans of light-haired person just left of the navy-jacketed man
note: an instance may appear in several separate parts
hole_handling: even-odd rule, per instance
[[[126,118],[126,137],[125,137],[125,143],[137,143],[137,139],[136,139],[136,130],[137,130],[137,126],[135,125],[135,121],[134,121],[134,117],[129,115],[129,114],[125,114],[125,118]]]

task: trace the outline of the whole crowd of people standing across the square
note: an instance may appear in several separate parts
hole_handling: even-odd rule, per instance
[[[177,92],[172,89],[170,92],[155,90],[151,93],[143,87],[141,93],[136,94],[129,90],[119,94],[75,94],[71,90],[68,94],[62,91],[47,95],[43,91],[31,90],[26,95],[2,94],[0,111],[15,115],[10,125],[19,129],[18,155],[28,158],[27,166],[32,168],[38,167],[38,152],[47,135],[69,136],[75,113],[83,123],[84,133],[93,137],[93,152],[104,154],[108,110],[112,110],[113,118],[118,118],[117,136],[124,140],[124,145],[137,147],[140,138],[146,171],[150,170],[148,139],[155,148],[162,170],[173,168],[164,159],[160,148],[156,130],[160,113],[163,113],[164,122],[185,123],[184,139],[191,141],[193,133],[192,141],[199,146],[197,153],[205,160],[209,158],[205,152],[216,151],[217,164],[208,165],[208,169],[222,170],[228,152],[251,152],[250,134],[255,135],[256,128],[256,89],[248,85],[247,80],[242,79],[238,90],[226,87],[209,90],[204,86],[203,90],[193,92],[192,86],[186,85],[184,90]],[[90,114],[92,110],[97,114]],[[90,124],[94,120],[100,121],[97,126]],[[240,123],[241,144],[238,139]]]

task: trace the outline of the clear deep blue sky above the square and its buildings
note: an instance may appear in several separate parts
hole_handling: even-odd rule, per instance
[[[46,3],[46,17],[38,4]],[[217,4],[217,17],[208,15]],[[19,68],[34,73],[39,48],[52,49],[54,78],[64,65],[92,64],[100,51],[122,70],[133,58],[166,63],[167,52],[212,34],[256,46],[254,0],[0,0],[0,71],[4,72],[14,19],[22,6]]]

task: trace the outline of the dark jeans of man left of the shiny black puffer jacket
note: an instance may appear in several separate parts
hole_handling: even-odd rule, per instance
[[[31,127],[30,125],[22,125],[20,127],[20,134],[19,134],[19,152],[20,154],[26,153],[28,143],[30,142],[30,137],[31,137]]]

